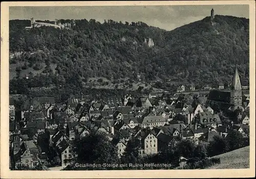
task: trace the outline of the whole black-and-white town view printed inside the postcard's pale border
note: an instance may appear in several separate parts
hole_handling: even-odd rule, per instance
[[[9,170],[255,167],[249,17],[248,3],[9,6]]]

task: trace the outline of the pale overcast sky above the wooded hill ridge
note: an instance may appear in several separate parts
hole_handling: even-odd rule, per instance
[[[54,19],[104,19],[115,21],[143,21],[149,26],[173,30],[185,24],[215,14],[249,18],[248,5],[193,5],[193,6],[52,6],[52,7],[10,7],[10,19],[37,20]]]

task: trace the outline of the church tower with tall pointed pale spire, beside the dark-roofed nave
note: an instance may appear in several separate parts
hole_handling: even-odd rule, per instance
[[[230,104],[232,105],[232,110],[242,109],[242,85],[238,73],[238,68],[234,72],[232,81],[232,91],[230,92]]]

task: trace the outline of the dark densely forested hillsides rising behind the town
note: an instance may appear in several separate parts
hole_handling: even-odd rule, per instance
[[[30,20],[10,20],[13,89],[20,85],[17,75],[30,77],[28,87],[82,86],[90,77],[218,85],[231,81],[236,64],[241,80],[248,80],[246,18],[216,15],[213,21],[205,17],[172,31],[142,22],[61,19],[58,23],[69,28],[26,30]]]

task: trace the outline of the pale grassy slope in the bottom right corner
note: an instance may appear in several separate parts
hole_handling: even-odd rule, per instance
[[[220,158],[221,163],[206,169],[242,169],[250,167],[250,146],[223,153],[213,158]]]

